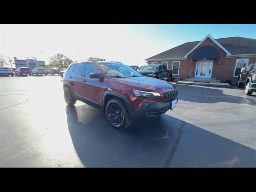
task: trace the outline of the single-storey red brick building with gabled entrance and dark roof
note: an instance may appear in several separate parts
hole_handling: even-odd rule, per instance
[[[230,37],[187,42],[145,59],[148,64],[165,64],[175,78],[216,78],[237,81],[242,67],[256,62],[256,39]]]

